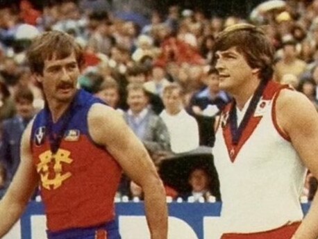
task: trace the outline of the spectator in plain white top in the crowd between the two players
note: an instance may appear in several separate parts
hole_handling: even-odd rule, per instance
[[[160,113],[168,128],[171,150],[177,154],[199,147],[199,127],[194,117],[185,111],[183,97],[180,85],[167,85],[162,95],[165,109]]]

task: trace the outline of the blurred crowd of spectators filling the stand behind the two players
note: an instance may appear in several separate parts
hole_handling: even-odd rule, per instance
[[[140,1],[114,3],[50,1],[39,10],[22,0],[0,9],[0,198],[19,165],[22,132],[45,104],[25,60],[31,40],[43,31],[65,31],[81,44],[85,67],[78,88],[122,113],[158,169],[162,160],[213,147],[217,115],[231,100],[218,88],[212,54],[226,26],[264,25],[276,49],[274,80],[303,92],[318,109],[318,0],[265,1],[246,19],[178,5],[158,11]],[[167,184],[167,195],[219,200],[215,177],[193,167],[184,179],[187,190]],[[311,200],[316,188],[308,172],[303,197]],[[118,195],[142,199],[126,176]]]

